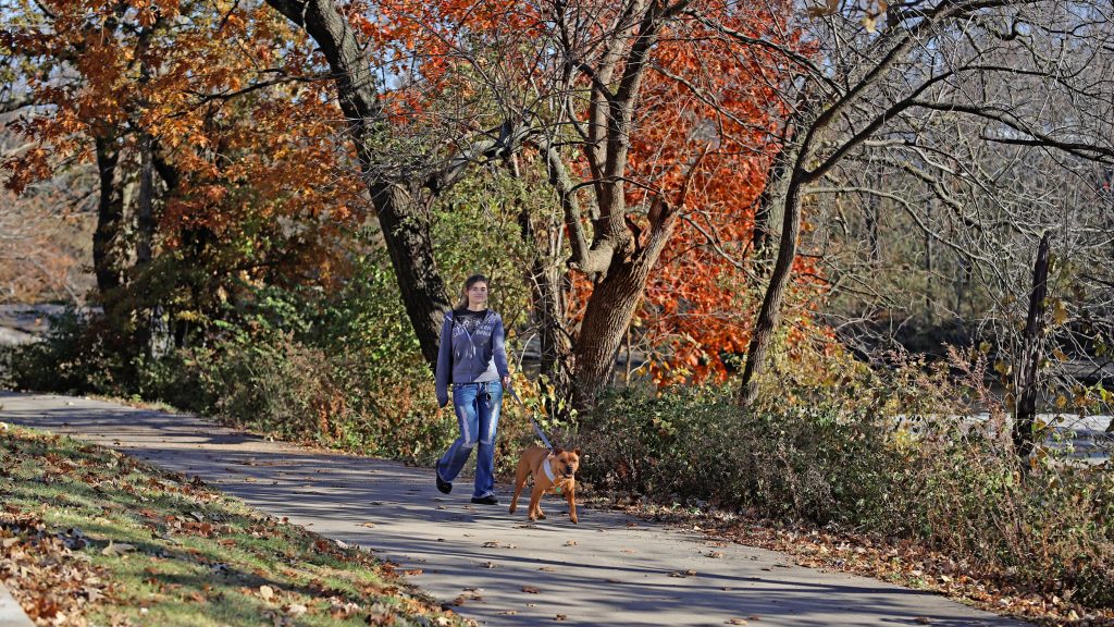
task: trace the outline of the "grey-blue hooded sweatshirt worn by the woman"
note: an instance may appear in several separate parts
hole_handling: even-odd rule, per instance
[[[502,318],[498,314],[488,310],[471,334],[455,322],[452,311],[446,311],[436,377],[437,404],[441,407],[449,403],[450,383],[491,382],[510,375]]]

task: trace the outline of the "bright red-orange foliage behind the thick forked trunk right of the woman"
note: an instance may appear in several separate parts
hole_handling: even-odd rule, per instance
[[[704,1],[692,10],[809,54],[788,26],[788,3],[743,8]],[[789,73],[776,59],[760,47],[741,49],[697,20],[675,25],[655,49],[631,137],[628,203],[646,206],[658,194],[680,203],[691,177],[682,219],[633,322],[635,337],[642,336],[638,344],[649,347],[649,373],[658,384],[722,380],[729,374],[724,357],[747,349],[761,299],[749,243],[780,147],[780,124],[789,113],[779,90]],[[645,220],[635,220],[646,228]],[[802,257],[794,271],[798,277],[818,273]],[[577,300],[586,301],[589,293],[590,283],[578,281]],[[793,327],[789,344],[805,341],[807,335]]]

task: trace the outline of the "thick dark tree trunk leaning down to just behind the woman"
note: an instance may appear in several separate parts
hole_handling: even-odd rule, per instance
[[[267,0],[267,3],[303,27],[329,61],[341,110],[383,230],[399,292],[422,356],[434,368],[442,316],[451,303],[434,263],[429,221],[418,199],[407,187],[384,180],[374,171],[375,141],[388,128],[371,66],[355,32],[331,0]]]

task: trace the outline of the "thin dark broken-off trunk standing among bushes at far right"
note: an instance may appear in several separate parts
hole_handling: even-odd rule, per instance
[[[1033,290],[1029,292],[1029,311],[1025,320],[1022,359],[1017,367],[1017,404],[1014,409],[1014,448],[1022,461],[1033,453],[1035,434],[1034,416],[1037,413],[1037,368],[1040,363],[1040,336],[1044,330],[1045,298],[1048,296],[1048,238],[1045,232],[1037,245],[1033,264]]]

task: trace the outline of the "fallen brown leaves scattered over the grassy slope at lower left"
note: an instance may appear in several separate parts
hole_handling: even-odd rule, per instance
[[[29,446],[32,442],[35,445]],[[126,536],[95,541],[87,539],[78,529],[53,531],[42,520],[51,519],[51,504],[46,502],[42,503],[42,511],[36,508],[33,515],[22,513],[14,505],[7,507],[7,512],[0,514],[0,582],[12,591],[40,626],[82,627],[87,625],[85,616],[95,604],[101,606],[98,614],[125,608],[146,614],[164,600],[218,604],[222,599],[233,598],[235,602],[243,602],[243,597],[228,594],[236,590],[229,586],[235,586],[240,578],[256,578],[255,587],[242,587],[238,592],[258,599],[257,602],[263,606],[260,615],[262,624],[294,625],[304,620],[300,618],[303,615],[328,615],[334,619],[355,619],[369,625],[394,625],[400,618],[414,616],[426,617],[431,625],[461,623],[451,614],[440,614],[428,600],[411,594],[405,583],[397,580],[401,573],[390,566],[382,567],[367,552],[306,534],[304,530],[282,524],[270,517],[228,509],[228,503],[218,493],[205,488],[201,480],[166,474],[114,451],[72,443],[46,452],[38,446],[47,443],[52,448],[59,442],[58,436],[21,431],[19,437],[0,442],[0,451],[7,447],[13,453],[10,459],[17,460],[16,463],[22,460],[33,464],[33,474],[23,472],[17,478],[32,490],[37,490],[38,484],[60,485],[65,482],[68,485],[63,493],[75,494],[82,490],[82,484],[88,485],[95,493],[90,495],[99,501],[88,515],[119,527]],[[50,481],[45,478],[50,478]],[[168,495],[180,495],[188,504],[177,505],[182,508],[177,511],[152,504],[157,502],[155,499]],[[99,519],[99,515],[105,518]],[[144,529],[150,533],[150,543],[145,540]],[[139,534],[136,536],[135,531]],[[216,554],[188,547],[187,542],[175,540],[176,536],[209,539]],[[144,540],[136,541],[136,537]],[[282,548],[272,557],[293,568],[272,571],[252,569],[237,562],[236,556],[243,552],[271,554],[273,549],[270,542],[261,544],[252,539],[278,540]],[[204,544],[204,540],[198,541]],[[224,551],[223,548],[231,550]],[[329,556],[329,559],[322,560],[323,556]],[[172,582],[166,578],[165,568],[159,566],[167,558],[178,565],[188,562],[207,568],[211,575],[221,577],[215,577],[212,586],[205,585],[201,589]],[[138,599],[124,586],[123,581],[128,579],[110,583],[114,577],[125,577],[113,570],[111,565],[117,560],[137,563],[146,575],[138,575],[135,581],[143,580],[155,592],[149,598]],[[95,568],[91,566],[94,561],[105,566]],[[336,561],[348,565],[353,571],[364,571],[352,580],[359,590],[356,596],[336,589],[335,583],[328,579],[312,579],[304,583],[306,578],[316,575],[321,575],[322,579],[325,579],[326,572],[336,576],[340,572]],[[409,573],[416,572],[412,570]],[[362,577],[371,579],[365,581]],[[120,620],[121,624],[128,621],[123,617]]]

